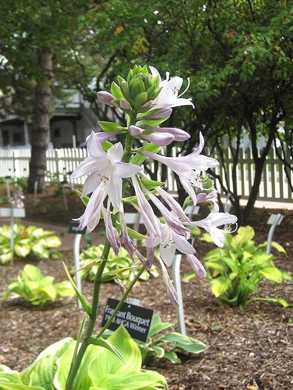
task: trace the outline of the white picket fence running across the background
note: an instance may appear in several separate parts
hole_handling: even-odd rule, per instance
[[[173,148],[172,156],[176,156],[178,149]],[[208,152],[206,152],[208,153]],[[280,151],[281,153],[281,151]],[[282,153],[281,153],[282,154]],[[11,175],[15,177],[28,177],[29,175],[29,160],[31,156],[30,149],[0,149],[0,177]],[[59,180],[64,179],[64,173],[72,172],[83,160],[88,157],[86,149],[79,148],[63,148],[63,149],[48,149],[47,150],[47,177],[46,181],[50,181],[53,176]],[[213,157],[217,158],[216,155]],[[286,156],[288,161],[293,164],[289,154]],[[226,167],[228,167],[228,180],[230,188],[232,188],[232,156],[231,151],[227,148],[227,157],[225,158]],[[150,167],[154,172],[154,164]],[[216,168],[216,173],[221,176],[226,185],[226,177],[224,169]],[[255,168],[252,158],[251,149],[241,149],[239,164],[236,169],[237,192],[241,198],[248,199],[250,190],[253,184]],[[161,179],[162,170],[159,165],[157,169],[157,179]],[[83,184],[85,177],[74,179],[77,184]],[[291,173],[291,180],[293,175]],[[170,192],[177,191],[176,180],[174,174],[167,171],[167,188]],[[217,185],[217,188],[220,188]],[[262,180],[259,188],[259,200],[270,200],[278,202],[293,202],[293,193],[288,185],[288,180],[284,171],[282,162],[277,158],[274,148],[271,149],[265,162],[265,169],[262,175]]]

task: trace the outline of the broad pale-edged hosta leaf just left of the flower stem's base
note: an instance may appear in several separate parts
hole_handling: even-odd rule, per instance
[[[42,351],[34,363],[21,372],[23,383],[30,386],[42,386],[46,390],[51,390],[53,378],[57,371],[57,360],[74,344],[75,342],[71,337],[66,337]]]

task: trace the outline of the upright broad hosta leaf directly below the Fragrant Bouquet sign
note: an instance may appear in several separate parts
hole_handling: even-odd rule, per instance
[[[112,352],[103,349],[99,354],[99,358],[94,359],[89,366],[89,376],[94,386],[99,386],[100,378],[106,374],[126,374],[141,368],[140,350],[123,326],[120,326],[111,334],[108,342],[123,355],[128,365],[126,366]]]

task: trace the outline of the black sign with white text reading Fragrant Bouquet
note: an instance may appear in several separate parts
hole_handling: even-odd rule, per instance
[[[119,301],[117,299],[108,298],[102,326],[104,326],[110,318],[118,303]],[[111,331],[115,331],[119,325],[123,324],[131,337],[146,343],[153,313],[153,310],[124,303],[113,318],[111,324],[109,325],[109,329]]]

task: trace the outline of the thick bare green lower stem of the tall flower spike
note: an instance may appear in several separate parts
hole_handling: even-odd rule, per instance
[[[101,277],[103,275],[103,271],[104,271],[104,268],[105,268],[105,265],[106,265],[106,260],[108,258],[109,251],[110,251],[110,243],[106,239],[105,246],[104,246],[104,251],[103,251],[104,260],[102,261],[102,263],[100,264],[100,266],[98,268],[98,271],[97,271],[96,276],[95,276],[95,281],[94,281],[94,292],[93,292],[93,299],[92,299],[92,312],[91,312],[91,315],[90,315],[89,320],[88,320],[87,329],[86,329],[86,332],[85,332],[85,336],[84,336],[84,340],[82,342],[81,348],[79,349],[78,354],[76,355],[75,361],[71,362],[71,367],[70,367],[70,370],[69,370],[69,375],[68,375],[68,378],[67,378],[65,390],[71,390],[72,389],[72,385],[73,385],[73,382],[74,382],[75,375],[76,375],[76,373],[77,373],[77,371],[79,369],[79,366],[80,366],[80,364],[82,362],[82,359],[83,359],[83,356],[84,356],[84,352],[85,352],[85,350],[87,348],[87,345],[88,345],[86,340],[87,340],[88,337],[90,337],[92,335],[92,332],[94,330],[94,326],[95,326],[95,323],[96,323],[96,320],[97,320],[100,288],[101,288],[101,283],[102,283]]]

